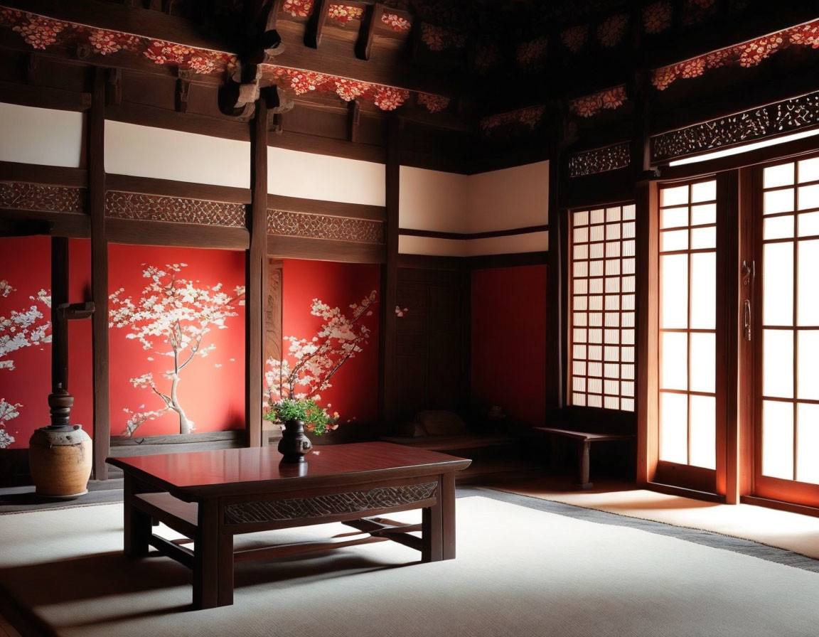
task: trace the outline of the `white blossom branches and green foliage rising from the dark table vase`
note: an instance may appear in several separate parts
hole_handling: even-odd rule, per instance
[[[373,315],[377,298],[378,292],[371,291],[360,303],[350,305],[349,316],[313,299],[310,314],[323,319],[316,336],[310,340],[286,337],[284,341],[290,344],[287,356],[267,360],[265,420],[300,420],[306,431],[316,435],[337,429],[338,413],[328,412],[330,404],[320,406],[320,392],[332,386],[333,376],[367,342],[369,328],[363,319]]]

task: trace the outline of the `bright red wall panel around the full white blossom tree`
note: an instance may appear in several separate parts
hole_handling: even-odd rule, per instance
[[[151,282],[143,276],[147,266],[165,269],[166,264],[186,264],[177,274],[196,287],[221,284],[221,290],[233,295],[234,288],[244,285],[244,253],[239,251],[199,250],[156,246],[111,245],[109,248],[109,289],[120,288],[120,298],[130,297],[136,303],[143,288]],[[235,305],[235,304],[234,304]],[[241,429],[244,424],[245,394],[245,308],[235,305],[236,314],[225,318],[224,329],[211,323],[211,331],[201,345],[213,345],[204,358],[197,356],[179,373],[179,404],[193,422],[193,433]],[[171,381],[163,373],[172,370],[173,358],[164,355],[171,350],[158,337],[156,351],[144,350],[136,338],[128,338],[130,328],[109,330],[111,356],[111,436],[123,435],[132,413],[156,411],[165,407],[160,396],[150,388],[134,386],[133,378],[152,373],[157,390],[169,394]],[[166,411],[147,420],[133,431],[134,437],[179,433],[179,416]]]

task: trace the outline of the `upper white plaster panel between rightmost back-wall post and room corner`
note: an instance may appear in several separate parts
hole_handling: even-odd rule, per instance
[[[401,166],[400,228],[466,232],[467,179],[463,174]]]

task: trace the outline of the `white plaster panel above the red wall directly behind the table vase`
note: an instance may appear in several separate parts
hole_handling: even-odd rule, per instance
[[[383,164],[276,147],[268,147],[267,161],[271,194],[369,206],[387,201]]]

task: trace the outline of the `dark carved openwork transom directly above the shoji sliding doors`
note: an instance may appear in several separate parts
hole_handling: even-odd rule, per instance
[[[819,92],[657,135],[651,138],[651,160],[672,160],[817,125]]]

